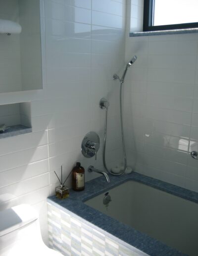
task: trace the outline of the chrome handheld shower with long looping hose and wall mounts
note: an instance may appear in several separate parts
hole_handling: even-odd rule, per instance
[[[120,82],[120,121],[121,121],[121,135],[122,135],[122,148],[123,148],[123,154],[124,154],[124,169],[120,172],[120,173],[113,173],[111,171],[108,170],[107,166],[106,166],[106,161],[105,161],[105,149],[106,149],[106,128],[107,128],[107,110],[108,110],[108,106],[109,106],[109,103],[108,104],[105,104],[105,107],[101,107],[100,103],[99,103],[99,106],[101,109],[105,109],[105,123],[104,123],[104,143],[103,143],[103,165],[104,165],[104,168],[105,170],[112,174],[112,175],[121,175],[125,172],[126,170],[126,167],[127,167],[127,158],[126,158],[126,149],[125,149],[125,142],[124,142],[124,129],[123,129],[123,118],[122,118],[122,84],[124,83],[124,78],[125,78],[125,75],[126,75],[126,72],[127,72],[127,69],[128,67],[130,67],[132,64],[134,64],[134,62],[137,60],[137,56],[134,56],[130,62],[128,62],[128,64],[126,65],[125,67],[125,70],[122,74],[122,77],[120,79],[119,75],[117,74],[114,74],[113,75],[113,80],[116,80],[118,79],[119,82]],[[105,99],[102,98],[100,100],[100,102],[103,102]],[[104,105],[104,104],[103,104]]]

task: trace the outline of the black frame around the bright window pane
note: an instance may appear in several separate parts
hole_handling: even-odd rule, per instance
[[[198,28],[198,22],[152,26],[154,0],[144,0],[143,32]]]

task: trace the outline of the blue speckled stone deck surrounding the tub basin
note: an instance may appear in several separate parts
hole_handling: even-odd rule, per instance
[[[99,177],[86,183],[85,190],[75,192],[70,190],[70,196],[67,199],[60,200],[55,195],[50,196],[48,201],[53,205],[73,212],[86,221],[98,226],[111,235],[123,240],[124,242],[136,247],[151,256],[181,256],[182,253],[172,249],[165,244],[143,234],[101,212],[86,205],[84,201],[106,192],[126,181],[133,180],[150,187],[169,192],[182,198],[198,203],[198,193],[192,192],[138,173],[125,174],[121,176],[110,177],[110,183],[106,183],[104,177]]]

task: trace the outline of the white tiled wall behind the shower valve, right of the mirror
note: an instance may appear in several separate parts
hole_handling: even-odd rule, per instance
[[[108,164],[120,161],[119,83],[112,81],[112,75],[124,64],[126,3],[41,3],[44,89],[0,94],[0,104],[31,101],[33,128],[31,134],[0,140],[0,209],[32,204],[41,213],[47,242],[46,197],[58,184],[53,171],[59,173],[63,165],[64,178],[77,160],[86,170],[90,164],[102,168],[105,113],[99,109],[101,97],[110,102]],[[85,159],[80,149],[84,135],[91,130],[101,139],[97,161]],[[95,177],[86,175],[86,179]]]

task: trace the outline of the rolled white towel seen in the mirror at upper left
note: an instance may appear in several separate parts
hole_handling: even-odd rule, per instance
[[[20,34],[21,25],[7,19],[0,19],[0,34]]]

